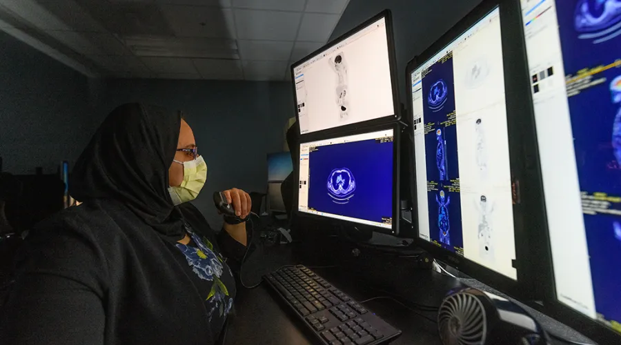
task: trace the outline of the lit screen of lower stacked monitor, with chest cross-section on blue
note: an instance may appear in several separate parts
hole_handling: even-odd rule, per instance
[[[300,144],[300,212],[391,229],[394,131]]]

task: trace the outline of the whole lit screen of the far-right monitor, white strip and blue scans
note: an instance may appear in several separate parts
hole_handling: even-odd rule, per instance
[[[621,333],[621,3],[521,4],[556,297]]]

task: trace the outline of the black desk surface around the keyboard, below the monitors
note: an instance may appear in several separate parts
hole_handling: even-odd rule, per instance
[[[262,275],[295,262],[288,246],[262,248],[250,255],[244,265],[242,277],[246,286],[260,281]],[[357,277],[343,268],[313,268],[315,273],[322,275],[331,284],[351,295],[357,301],[373,297],[386,296],[385,293],[369,288]],[[404,278],[405,280],[406,278]],[[431,296],[430,289],[445,290],[453,284],[444,275],[428,270],[420,270],[408,274],[409,282],[404,284],[397,294],[417,296],[417,302],[426,305],[439,305]],[[395,345],[441,345],[437,335],[437,324],[428,318],[435,319],[435,312],[413,311],[392,299],[374,299],[364,303],[369,310],[376,313],[388,324],[399,328],[402,335],[391,342]],[[424,316],[422,316],[424,315]],[[270,344],[270,345],[313,345],[318,344],[312,333],[295,317],[293,311],[277,298],[267,284],[247,289],[239,286],[235,299],[235,315],[228,320],[226,345],[233,344]],[[551,344],[560,344],[552,342]]]

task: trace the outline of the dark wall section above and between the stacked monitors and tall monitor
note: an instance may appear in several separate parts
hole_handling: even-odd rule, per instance
[[[397,74],[405,103],[405,69],[408,61],[423,52],[442,34],[475,8],[481,0],[351,0],[331,39],[355,28],[388,8],[393,14]]]

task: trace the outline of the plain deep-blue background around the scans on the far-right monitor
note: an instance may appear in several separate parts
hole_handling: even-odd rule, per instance
[[[621,35],[603,43],[579,39],[580,32],[574,26],[578,1],[556,3],[566,75],[575,76],[584,68],[606,66],[621,59]],[[596,2],[590,5],[596,6]],[[595,17],[599,15],[595,13]],[[621,167],[612,146],[613,122],[621,104],[611,101],[610,90],[611,81],[619,75],[621,68],[598,72],[592,80],[603,77],[603,83],[568,99],[580,190],[589,195],[602,192],[621,196]],[[554,135],[554,128],[550,128],[550,135]],[[620,209],[621,205],[612,203],[610,208]],[[608,320],[621,322],[621,241],[615,238],[615,221],[621,222],[621,217],[584,215],[596,310]]]

